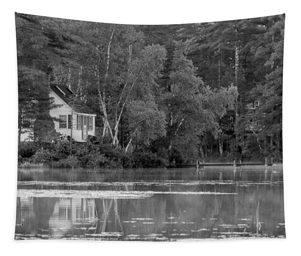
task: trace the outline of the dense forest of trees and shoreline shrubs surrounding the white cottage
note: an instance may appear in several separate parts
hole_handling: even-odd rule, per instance
[[[19,138],[25,118],[35,132],[52,122],[50,83],[69,85],[97,114],[85,145],[19,139],[19,159],[281,162],[284,20],[122,25],[16,14]]]

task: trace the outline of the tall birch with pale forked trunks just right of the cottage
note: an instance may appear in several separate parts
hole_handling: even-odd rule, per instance
[[[126,105],[132,99],[136,88],[153,86],[160,76],[166,51],[159,45],[144,47],[135,51],[133,46],[141,39],[141,33],[131,26],[115,26],[109,29],[104,74],[100,73],[103,52],[97,47],[98,66],[95,75],[98,85],[99,107],[103,114],[102,137],[108,135],[114,147],[119,146],[119,126]],[[117,40],[118,39],[118,40]],[[107,93],[110,92],[109,98]]]

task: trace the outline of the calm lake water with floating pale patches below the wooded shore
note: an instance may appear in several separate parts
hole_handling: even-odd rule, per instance
[[[15,239],[285,238],[280,168],[19,169]]]

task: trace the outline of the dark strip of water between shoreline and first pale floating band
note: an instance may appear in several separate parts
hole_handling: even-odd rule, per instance
[[[196,172],[191,169],[133,169],[133,170],[108,170],[99,172],[95,170],[62,170],[43,168],[39,171],[30,169],[18,169],[18,181],[60,181],[60,182],[131,182],[131,181],[161,181],[161,180],[215,180],[215,181],[250,181],[250,182],[277,182],[283,180],[282,168],[271,168],[265,172],[264,167],[235,172],[232,168],[206,168]]]

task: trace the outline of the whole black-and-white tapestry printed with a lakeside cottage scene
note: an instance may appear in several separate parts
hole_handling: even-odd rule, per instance
[[[15,240],[285,238],[284,14],[15,21]]]

